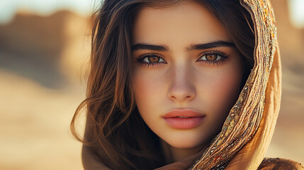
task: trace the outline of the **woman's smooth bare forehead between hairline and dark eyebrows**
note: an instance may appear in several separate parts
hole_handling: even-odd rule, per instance
[[[230,36],[208,9],[196,2],[181,1],[164,8],[142,7],[135,17],[133,43],[201,43],[230,41]],[[174,43],[174,44],[176,44]]]

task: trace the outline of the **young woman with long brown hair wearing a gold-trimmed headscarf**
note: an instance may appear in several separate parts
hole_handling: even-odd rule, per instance
[[[281,97],[269,1],[104,1],[93,35],[85,169],[303,169],[262,162]]]

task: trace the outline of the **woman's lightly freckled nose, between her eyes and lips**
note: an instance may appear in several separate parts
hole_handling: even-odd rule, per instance
[[[175,68],[170,75],[170,86],[168,97],[172,101],[184,102],[191,101],[196,97],[196,88],[194,86],[194,75],[186,67]]]

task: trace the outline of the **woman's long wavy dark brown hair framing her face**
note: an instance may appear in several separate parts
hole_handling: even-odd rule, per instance
[[[244,81],[254,64],[254,26],[240,0],[201,0],[223,24],[244,60]],[[96,11],[91,40],[91,66],[86,99],[87,122],[84,145],[98,147],[98,159],[111,169],[154,169],[163,166],[159,138],[140,118],[131,84],[133,19],[143,6],[162,8],[177,0],[106,0]],[[90,134],[90,135],[87,135]],[[102,152],[102,153],[101,153]]]

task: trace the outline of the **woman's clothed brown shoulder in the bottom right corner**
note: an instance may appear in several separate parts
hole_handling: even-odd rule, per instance
[[[303,164],[289,159],[264,158],[257,170],[304,170]]]

